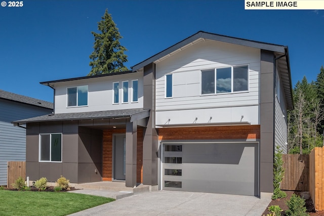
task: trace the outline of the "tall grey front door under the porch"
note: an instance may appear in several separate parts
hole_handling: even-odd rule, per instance
[[[114,180],[125,180],[126,174],[126,136],[114,136]]]

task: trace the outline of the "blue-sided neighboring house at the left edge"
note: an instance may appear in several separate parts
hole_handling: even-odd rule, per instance
[[[0,185],[7,185],[7,161],[25,161],[26,129],[11,121],[52,113],[53,103],[0,90]]]

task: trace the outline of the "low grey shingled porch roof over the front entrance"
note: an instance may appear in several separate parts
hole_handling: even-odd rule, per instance
[[[131,118],[132,122],[133,120],[148,117],[149,111],[150,110],[145,109],[124,109],[96,112],[58,113],[26,118],[22,120],[13,121],[12,123],[25,124],[27,122],[81,120],[95,118]]]

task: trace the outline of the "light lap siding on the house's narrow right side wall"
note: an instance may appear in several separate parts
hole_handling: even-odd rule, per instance
[[[275,146],[278,146],[282,153],[287,153],[287,108],[284,92],[281,91],[280,87],[280,96],[275,96],[275,135],[274,143]],[[279,98],[279,100],[278,100]]]

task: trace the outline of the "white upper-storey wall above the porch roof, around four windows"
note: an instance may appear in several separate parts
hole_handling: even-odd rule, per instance
[[[132,102],[132,80],[138,79],[138,102]],[[123,81],[129,81],[128,103],[122,103]],[[113,104],[113,82],[119,82],[119,103]],[[88,85],[88,105],[67,107],[67,88]],[[143,73],[127,73],[55,83],[55,113],[143,108]]]

